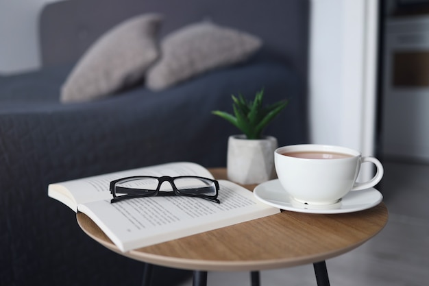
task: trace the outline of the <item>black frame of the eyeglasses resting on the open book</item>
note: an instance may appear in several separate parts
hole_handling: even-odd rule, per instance
[[[115,184],[117,184],[117,182],[121,182],[123,180],[137,180],[139,178],[156,179],[156,180],[158,180],[158,186],[156,187],[155,190],[128,188],[128,187],[115,187]],[[216,194],[215,195],[198,195],[198,194],[189,194],[189,193],[181,192],[181,191],[186,191],[186,190],[177,189],[177,187],[174,184],[174,180],[177,178],[195,178],[195,179],[208,180],[210,182],[213,182],[215,184]],[[169,182],[171,184],[171,187],[173,188],[173,191],[160,191],[160,187],[161,187],[162,183],[164,183],[164,182]],[[116,189],[118,189],[118,188],[122,189],[124,191],[123,193],[127,193],[127,195],[117,196],[116,195],[117,191],[115,191],[115,188]],[[193,188],[191,188],[191,189],[193,189]],[[221,201],[219,199],[217,199],[217,196],[219,195],[219,182],[217,180],[214,180],[211,178],[204,178],[204,177],[200,177],[200,176],[177,176],[177,177],[171,177],[171,176],[161,176],[161,177],[156,177],[156,176],[130,176],[130,177],[125,177],[125,178],[119,178],[117,180],[113,180],[112,182],[110,182],[110,193],[113,196],[112,200],[110,200],[110,203],[119,202],[121,200],[127,200],[127,199],[132,199],[132,198],[144,198],[144,197],[154,197],[154,196],[165,197],[165,196],[171,196],[171,195],[180,195],[180,196],[185,196],[185,197],[201,198],[204,200],[209,200],[211,202],[216,202],[217,204],[221,203]]]

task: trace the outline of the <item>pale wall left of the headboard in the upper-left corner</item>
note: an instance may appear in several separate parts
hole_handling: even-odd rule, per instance
[[[45,3],[59,0],[0,0],[0,74],[40,67],[37,19]]]

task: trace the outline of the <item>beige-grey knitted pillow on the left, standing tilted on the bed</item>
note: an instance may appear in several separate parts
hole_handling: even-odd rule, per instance
[[[143,14],[103,34],[71,71],[62,86],[60,101],[101,99],[141,80],[159,57],[161,22],[159,14]]]

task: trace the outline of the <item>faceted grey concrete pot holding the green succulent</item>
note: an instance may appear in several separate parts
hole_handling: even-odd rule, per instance
[[[249,140],[245,135],[232,135],[228,139],[228,180],[238,184],[259,184],[275,177],[274,150],[277,139]]]

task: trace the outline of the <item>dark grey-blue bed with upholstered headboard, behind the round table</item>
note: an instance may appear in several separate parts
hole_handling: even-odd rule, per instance
[[[180,2],[180,4],[178,3]],[[266,130],[280,145],[308,141],[308,2],[60,1],[40,15],[43,68],[0,78],[0,285],[138,285],[141,263],[99,246],[75,214],[47,197],[51,182],[176,160],[225,166],[232,126],[211,110],[230,95],[265,88],[267,102],[290,100]],[[199,75],[164,91],[144,84],[97,102],[61,104],[60,86],[103,31],[134,14],[160,12],[162,36],[210,17],[260,36],[245,63]],[[156,267],[153,285],[188,272]],[[166,274],[168,273],[168,274]]]

